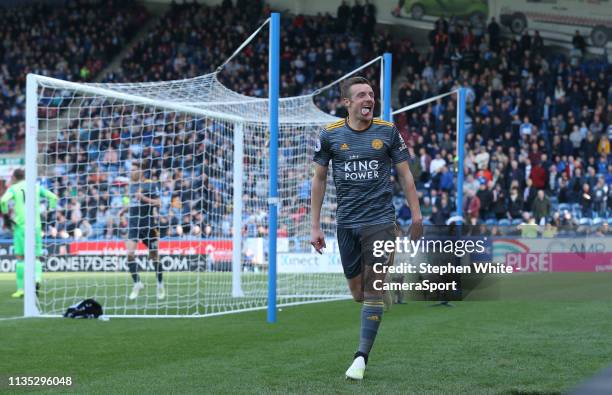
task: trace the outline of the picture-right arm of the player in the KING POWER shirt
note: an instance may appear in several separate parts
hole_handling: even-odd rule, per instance
[[[393,136],[391,139],[391,159],[395,165],[397,179],[404,191],[410,213],[412,214],[412,226],[410,228],[410,236],[413,240],[420,238],[423,234],[423,216],[421,215],[421,207],[417,195],[414,177],[408,166],[408,149],[404,143],[404,139],[399,134],[399,131],[394,127]]]

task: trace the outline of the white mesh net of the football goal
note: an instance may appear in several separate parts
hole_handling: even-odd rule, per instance
[[[134,84],[37,77],[37,85],[38,175],[60,198],[43,227],[42,314],[60,314],[89,297],[107,314],[123,316],[209,315],[267,305],[266,99],[232,92],[215,74]],[[344,297],[340,263],[313,266],[309,245],[314,141],[336,118],[311,96],[281,99],[279,118],[278,303]],[[240,155],[235,147],[242,147]],[[142,179],[134,176],[136,164],[143,166]],[[234,177],[242,177],[239,186]],[[329,180],[322,224],[333,239]],[[135,213],[146,204],[151,214],[139,218]],[[235,232],[241,234],[240,264],[232,268]],[[156,235],[163,298],[155,286],[157,260],[142,242]],[[141,240],[136,263],[145,285],[133,300],[129,239]]]

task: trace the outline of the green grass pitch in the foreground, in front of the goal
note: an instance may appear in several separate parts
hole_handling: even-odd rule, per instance
[[[71,376],[66,393],[556,394],[612,363],[612,276],[507,277],[499,300],[393,306],[363,382],[350,301],[198,319],[16,319],[0,275],[0,392],[8,376]],[[31,388],[30,388],[31,390]]]

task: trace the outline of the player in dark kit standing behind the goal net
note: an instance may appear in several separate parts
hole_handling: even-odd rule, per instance
[[[130,207],[128,239],[125,241],[127,264],[134,281],[130,300],[138,297],[144,284],[140,281],[138,264],[136,263],[136,248],[138,241],[147,246],[149,259],[153,261],[157,277],[157,299],[164,299],[166,291],[163,283],[163,273],[159,262],[159,221],[156,208],[161,207],[160,186],[158,182],[145,178],[144,163],[132,164],[132,179],[130,182]]]

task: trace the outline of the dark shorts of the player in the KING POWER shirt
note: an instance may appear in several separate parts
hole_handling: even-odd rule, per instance
[[[338,228],[338,249],[344,276],[347,279],[355,278],[362,273],[363,265],[371,266],[379,262],[390,262],[393,254],[385,253],[381,257],[374,256],[374,242],[384,243],[387,240],[395,242],[397,234],[395,223]]]

